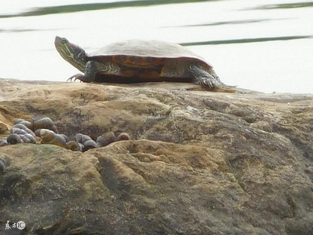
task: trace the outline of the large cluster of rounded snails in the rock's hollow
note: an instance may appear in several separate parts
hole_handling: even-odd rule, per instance
[[[117,137],[113,132],[107,132],[99,136],[96,141],[81,133],[75,135],[75,141],[70,141],[66,135],[58,134],[57,127],[50,118],[36,115],[31,122],[24,119],[15,119],[14,125],[10,129],[10,135],[0,140],[0,146],[16,143],[36,143],[38,137],[41,138],[40,143],[54,144],[81,152],[106,146],[115,141],[130,139],[125,132],[120,133]]]

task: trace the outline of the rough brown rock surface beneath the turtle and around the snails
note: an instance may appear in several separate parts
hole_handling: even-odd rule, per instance
[[[1,235],[313,234],[313,94],[0,79],[0,123],[35,114],[133,140],[0,147]]]

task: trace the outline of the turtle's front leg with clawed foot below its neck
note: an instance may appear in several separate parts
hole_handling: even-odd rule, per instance
[[[77,73],[67,79],[67,81],[80,80],[81,82],[93,82],[96,73],[117,74],[120,68],[111,62],[99,63],[97,61],[88,61],[85,66],[84,74]]]

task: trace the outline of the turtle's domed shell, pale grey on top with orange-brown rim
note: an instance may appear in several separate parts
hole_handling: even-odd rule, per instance
[[[202,67],[211,69],[212,65],[203,58],[179,44],[157,40],[129,40],[109,44],[88,54],[88,60],[99,62],[111,61],[123,66],[148,68],[164,65],[171,60],[198,63]]]

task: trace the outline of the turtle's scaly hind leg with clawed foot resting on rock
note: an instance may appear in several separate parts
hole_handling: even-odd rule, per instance
[[[214,90],[223,85],[220,78],[213,69],[206,71],[197,65],[191,65],[188,69],[188,72],[194,77],[195,83],[198,83],[202,87],[208,88],[209,90]]]

